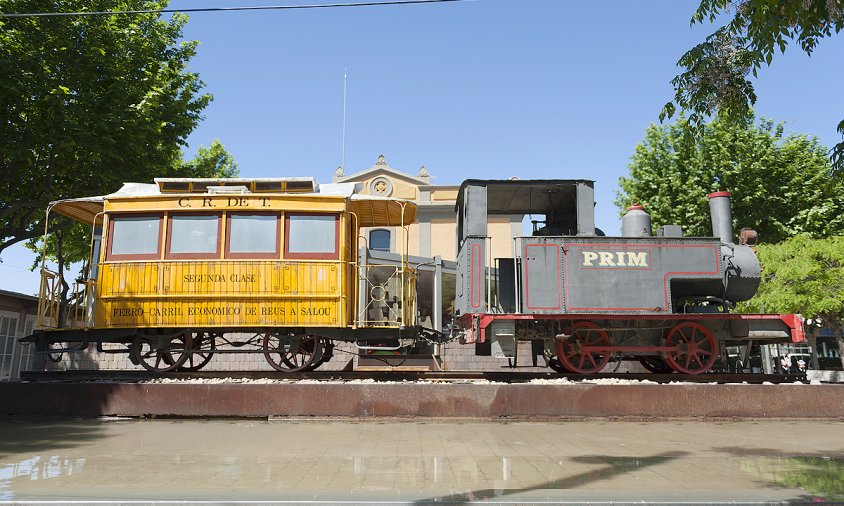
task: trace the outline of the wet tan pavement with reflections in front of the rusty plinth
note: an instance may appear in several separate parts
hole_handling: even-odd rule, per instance
[[[791,421],[4,421],[0,500],[844,500],[842,428]]]

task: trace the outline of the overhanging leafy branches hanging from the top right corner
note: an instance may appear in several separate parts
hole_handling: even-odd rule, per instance
[[[789,42],[811,55],[820,39],[844,28],[844,0],[701,0],[692,24],[714,22],[730,11],[733,18],[726,25],[677,62],[685,71],[671,81],[674,100],[662,109],[660,120],[672,117],[677,107],[689,111],[695,125],[716,112],[746,117],[756,102],[750,73],[756,77]],[[838,132],[844,135],[844,121]],[[833,167],[844,169],[844,142],[831,155]]]

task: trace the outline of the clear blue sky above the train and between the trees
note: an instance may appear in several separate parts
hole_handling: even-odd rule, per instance
[[[171,0],[171,8],[317,1]],[[592,179],[596,225],[620,230],[612,201],[645,129],[673,97],[677,60],[713,31],[697,2],[474,0],[408,6],[194,13],[192,71],[214,101],[187,157],[219,138],[242,177],[328,183],[383,154],[434,184]],[[811,57],[790,47],[754,80],[757,113],[827,146],[844,117],[844,36]],[[82,195],[80,195],[81,197]],[[3,251],[0,289],[34,294],[32,254]]]

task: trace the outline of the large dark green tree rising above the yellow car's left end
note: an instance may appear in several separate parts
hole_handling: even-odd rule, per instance
[[[100,10],[166,0],[102,0]],[[0,0],[6,13],[86,10],[85,0]],[[0,252],[44,231],[50,201],[178,173],[211,100],[187,70],[187,18],[0,18]]]

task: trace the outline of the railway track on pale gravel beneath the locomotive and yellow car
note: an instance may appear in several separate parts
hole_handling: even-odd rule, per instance
[[[784,384],[808,383],[806,374],[652,374],[652,373],[603,373],[603,374],[557,374],[545,372],[514,371],[314,371],[296,374],[284,374],[275,371],[201,371],[152,374],[146,371],[46,371],[23,372],[21,381],[30,383],[143,383],[154,380],[184,380],[185,382],[202,380],[276,380],[276,381],[361,381],[375,382],[497,382],[528,383],[534,380],[596,381],[628,380],[649,381],[659,384],[668,383],[748,383],[748,384]]]

